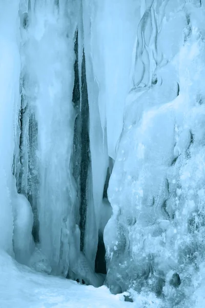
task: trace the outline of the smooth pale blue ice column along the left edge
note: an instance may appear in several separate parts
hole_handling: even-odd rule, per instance
[[[14,135],[19,104],[18,1],[0,3],[0,247],[12,252]]]

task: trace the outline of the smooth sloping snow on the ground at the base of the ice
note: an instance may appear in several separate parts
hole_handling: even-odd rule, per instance
[[[159,300],[140,296],[135,302],[125,302],[124,295],[112,295],[106,286],[95,288],[73,280],[32,271],[0,253],[1,308],[124,308],[159,307]],[[149,304],[150,302],[150,304]]]

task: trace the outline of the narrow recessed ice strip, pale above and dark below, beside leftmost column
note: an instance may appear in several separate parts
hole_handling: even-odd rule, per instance
[[[14,175],[18,193],[23,194],[31,204],[34,214],[32,234],[35,242],[38,242],[39,222],[37,217],[37,202],[39,197],[39,172],[37,161],[37,122],[35,116],[35,80],[29,70],[30,10],[31,8],[28,2],[20,1],[21,100],[14,150]]]

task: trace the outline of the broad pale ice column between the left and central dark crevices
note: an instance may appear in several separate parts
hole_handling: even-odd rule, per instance
[[[37,122],[39,248],[48,258],[53,273],[66,276],[69,236],[75,236],[75,188],[70,157],[78,10],[71,1],[29,3],[25,78],[27,89],[33,94],[30,104]]]

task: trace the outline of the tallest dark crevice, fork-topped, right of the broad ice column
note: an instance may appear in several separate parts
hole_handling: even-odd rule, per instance
[[[81,76],[78,72],[78,31],[75,33],[75,63],[74,63],[74,87],[73,87],[73,105],[76,110],[76,119],[74,124],[73,137],[73,176],[77,184],[77,208],[79,209],[80,229],[80,251],[84,250],[86,212],[87,212],[87,183],[90,164],[90,140],[89,140],[89,104],[88,90],[86,81],[86,61],[83,50],[83,59],[81,64]],[[81,88],[79,80],[81,78]],[[80,106],[81,91],[81,106]]]

